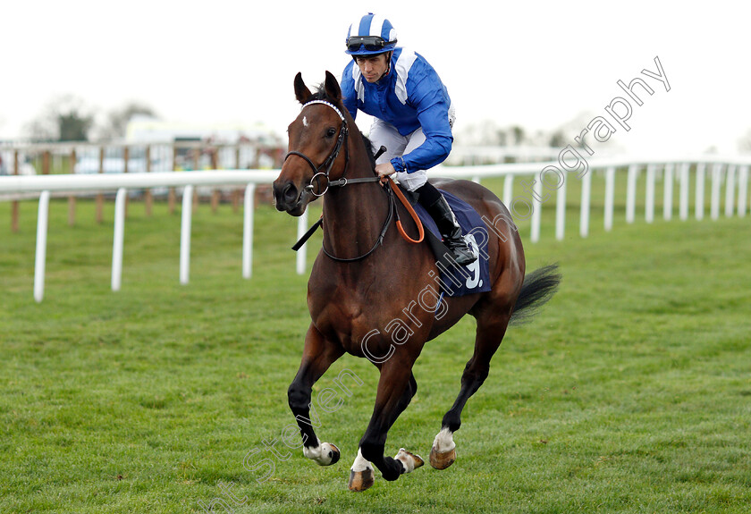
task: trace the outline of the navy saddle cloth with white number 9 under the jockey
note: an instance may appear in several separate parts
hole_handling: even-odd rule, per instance
[[[441,286],[441,291],[446,296],[463,296],[490,291],[492,284],[488,271],[488,237],[485,222],[467,202],[444,190],[441,190],[441,192],[446,201],[449,202],[454,215],[456,215],[456,220],[461,226],[461,233],[464,235],[469,248],[478,257],[472,264],[458,265],[451,257],[451,250],[443,244],[441,232],[438,231],[438,226],[435,224],[433,217],[427,214],[425,207],[413,201],[414,195],[409,195],[408,198],[425,227],[426,240],[435,253],[436,265],[440,270],[440,280],[436,280],[436,282]]]

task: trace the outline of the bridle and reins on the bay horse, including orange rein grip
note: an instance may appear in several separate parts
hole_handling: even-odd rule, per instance
[[[326,257],[329,257],[329,258],[333,259],[336,262],[343,262],[343,263],[356,262],[356,261],[359,261],[359,260],[362,260],[362,259],[368,257],[370,254],[372,254],[375,251],[375,249],[377,249],[380,245],[383,244],[384,237],[386,235],[386,232],[388,232],[388,230],[389,230],[389,226],[391,226],[391,222],[392,222],[392,219],[394,218],[394,216],[396,216],[396,226],[397,226],[397,229],[399,230],[402,238],[404,238],[405,240],[407,240],[407,241],[409,241],[411,243],[419,243],[419,242],[421,242],[423,240],[424,235],[425,235],[425,232],[424,232],[424,229],[423,229],[423,225],[420,222],[420,220],[418,218],[418,215],[415,212],[414,208],[412,208],[411,204],[409,204],[409,200],[407,200],[407,198],[404,197],[404,194],[401,192],[401,190],[399,189],[399,187],[396,186],[396,184],[392,181],[391,178],[385,177],[385,180],[382,180],[381,177],[375,176],[375,177],[363,177],[363,178],[348,179],[348,178],[346,178],[344,176],[344,174],[347,173],[347,168],[349,167],[349,164],[350,164],[350,147],[348,145],[346,145],[346,140],[349,137],[349,132],[350,131],[349,131],[349,128],[347,126],[347,120],[344,118],[344,115],[342,114],[342,112],[336,107],[336,105],[333,105],[333,104],[331,104],[329,102],[326,102],[325,100],[312,100],[312,101],[308,102],[307,104],[303,105],[302,108],[304,109],[305,107],[307,107],[308,105],[311,105],[311,104],[322,104],[322,105],[328,105],[329,107],[331,107],[336,112],[336,114],[339,115],[339,118],[342,120],[342,126],[340,127],[340,130],[339,130],[339,137],[336,139],[336,143],[334,144],[334,147],[333,147],[331,153],[329,154],[328,157],[326,157],[326,159],[323,162],[323,164],[321,164],[319,166],[316,166],[316,164],[314,164],[313,161],[308,156],[306,156],[305,154],[303,154],[302,152],[290,151],[290,152],[287,153],[286,156],[284,156],[284,160],[285,161],[290,156],[299,156],[302,159],[304,159],[308,163],[308,165],[311,167],[311,169],[313,170],[313,176],[310,178],[310,183],[307,186],[305,186],[305,190],[309,190],[310,193],[313,194],[316,197],[322,197],[322,196],[324,196],[326,194],[326,192],[331,187],[344,187],[344,186],[349,185],[349,184],[361,184],[361,183],[367,183],[367,182],[381,181],[383,183],[383,185],[384,185],[384,189],[388,193],[388,198],[389,198],[389,214],[386,216],[386,220],[384,222],[384,226],[381,228],[381,232],[378,235],[378,238],[375,240],[375,243],[374,243],[373,247],[371,247],[371,249],[367,250],[366,253],[360,255],[359,257],[342,258],[342,257],[336,257],[333,254],[329,253],[329,251],[326,250],[325,246],[322,244],[321,245],[321,249],[323,249]],[[342,177],[341,178],[339,178],[339,179],[337,179],[335,181],[331,181],[329,179],[329,173],[331,173],[331,169],[333,167],[334,161],[336,160],[336,158],[339,156],[340,152],[342,151],[342,145],[344,145],[344,155],[345,155],[344,171],[342,172]],[[376,156],[379,156],[384,151],[385,151],[385,147],[381,147],[381,149],[376,154]],[[321,170],[323,168],[325,168],[325,171],[322,172]],[[318,177],[318,175],[323,175],[325,177],[325,179],[326,179],[325,190],[323,192],[321,192],[321,193],[316,193],[314,191],[314,189],[316,188],[316,186],[313,185],[313,182],[318,180],[316,178],[316,177]],[[396,200],[394,198],[394,192],[396,193],[396,197],[400,199],[402,205],[404,205],[407,208],[407,211],[409,212],[409,215],[412,217],[412,220],[415,222],[415,224],[418,225],[418,233],[419,233],[419,235],[418,235],[418,239],[417,240],[411,239],[409,237],[409,235],[407,235],[407,232],[404,231],[404,228],[401,225],[401,219],[399,218],[399,212],[398,212],[397,207],[396,207]],[[313,233],[316,232],[316,230],[318,229],[318,227],[320,227],[320,226],[323,225],[323,223],[324,223],[324,216],[321,215],[321,217],[318,219],[318,221],[316,223],[314,223],[313,226],[310,227],[310,229],[308,229],[308,232],[306,232],[300,238],[300,240],[298,240],[297,243],[295,243],[295,245],[292,247],[292,249],[295,250],[295,251],[299,250],[302,247],[302,245],[305,244],[305,242],[308,239],[310,239],[310,237],[313,235]]]

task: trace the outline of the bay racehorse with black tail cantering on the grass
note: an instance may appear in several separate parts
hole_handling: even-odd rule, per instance
[[[274,205],[299,216],[325,194],[323,246],[308,280],[311,323],[288,391],[303,454],[322,466],[340,458],[334,444],[316,436],[310,402],[313,384],[347,352],[370,359],[380,371],[373,415],[350,470],[350,489],[373,485],[373,465],[386,480],[422,466],[423,459],[403,448],[395,458],[384,456],[386,435],[418,390],[412,367],[426,341],[470,314],[477,319],[475,351],[430,452],[434,468],[448,468],[456,459],[453,434],[461,425],[461,411],[485,381],[511,319],[534,313],[553,295],[561,276],[552,265],[525,277],[519,233],[493,192],[471,181],[433,181],[467,201],[488,224],[487,251],[480,258],[488,259],[490,291],[443,298],[431,278],[438,272],[432,250],[389,230],[394,209],[405,217],[405,207],[390,201],[389,186],[375,176],[371,147],[342,105],[337,80],[326,72],[314,94],[298,73],[294,91],[302,108],[289,125],[289,153],[274,181]]]

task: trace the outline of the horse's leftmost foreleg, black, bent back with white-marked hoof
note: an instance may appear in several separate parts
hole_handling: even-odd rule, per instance
[[[342,346],[325,339],[313,324],[305,336],[300,369],[287,391],[292,415],[297,420],[302,436],[302,453],[315,460],[319,466],[335,464],[340,457],[339,449],[330,442],[320,442],[314,430],[320,426],[317,415],[310,416],[310,394],[313,384],[324,375],[332,363],[342,357]]]

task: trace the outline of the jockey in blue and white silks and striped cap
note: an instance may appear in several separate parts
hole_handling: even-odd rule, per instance
[[[460,265],[477,257],[467,246],[456,216],[441,191],[427,181],[426,170],[451,152],[455,114],[451,98],[422,55],[396,46],[390,21],[367,13],[350,25],[346,53],[352,61],[342,75],[342,98],[352,118],[358,109],[375,118],[370,127],[374,148],[386,147],[375,173],[396,179],[418,194],[438,225],[443,242]]]

